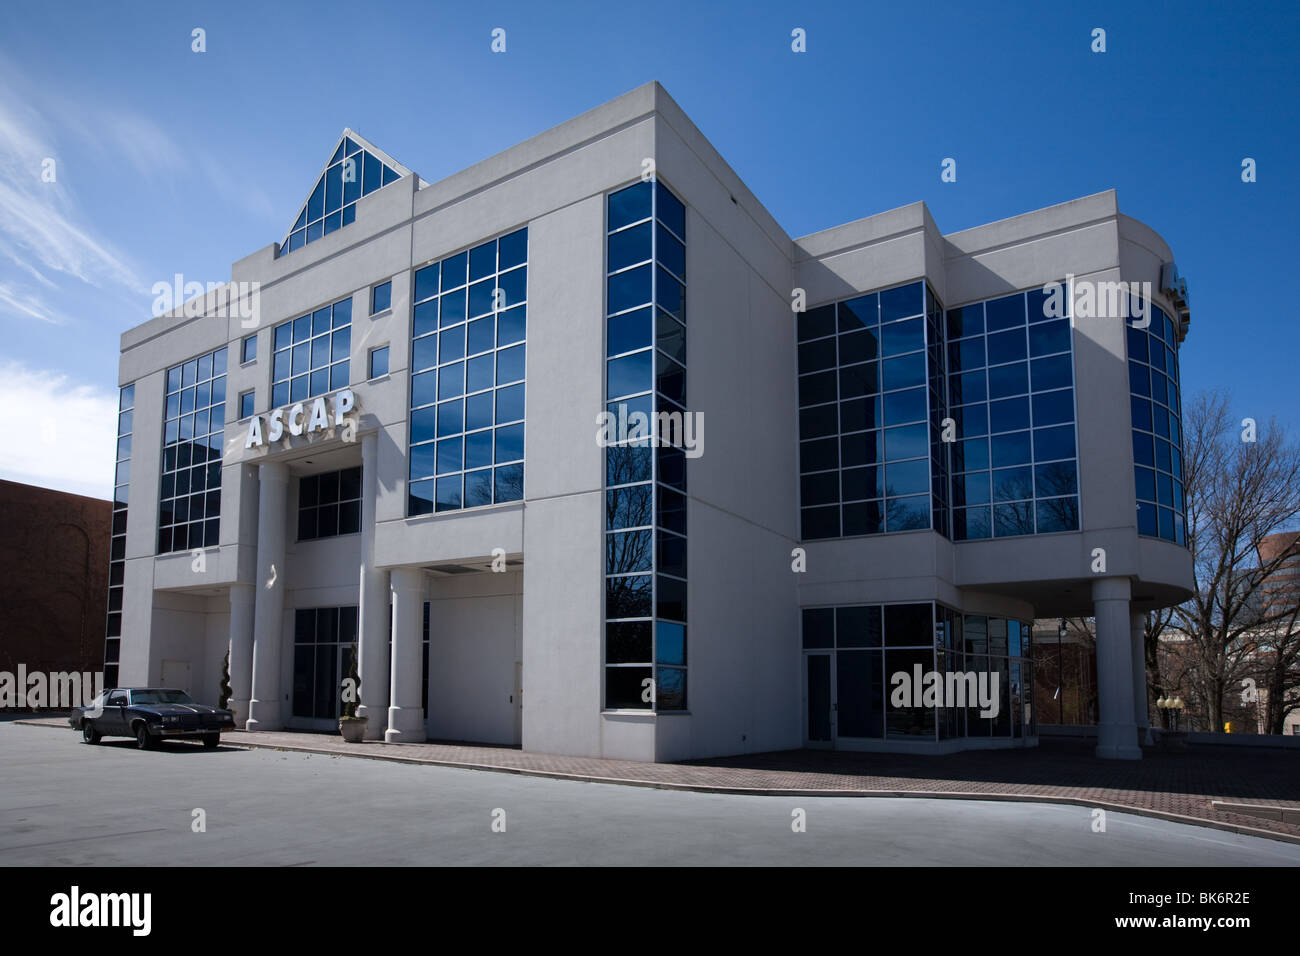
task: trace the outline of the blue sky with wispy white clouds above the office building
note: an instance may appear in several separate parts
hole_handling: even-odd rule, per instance
[[[956,232],[1117,189],[1188,280],[1184,393],[1230,388],[1239,415],[1300,429],[1282,284],[1295,4],[47,3],[5,20],[0,401],[26,440],[4,442],[0,477],[108,497],[120,334],[155,282],[228,280],[282,239],[344,126],[437,181],[649,79],[792,235],[918,199]]]

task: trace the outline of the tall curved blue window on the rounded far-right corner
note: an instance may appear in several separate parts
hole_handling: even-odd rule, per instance
[[[1130,315],[1149,316],[1148,325],[1130,323],[1127,329],[1138,533],[1186,546],[1178,326],[1154,303],[1147,308],[1135,307]]]

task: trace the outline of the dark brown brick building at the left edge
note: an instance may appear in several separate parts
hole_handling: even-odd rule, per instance
[[[0,671],[103,669],[112,512],[99,498],[0,481]]]

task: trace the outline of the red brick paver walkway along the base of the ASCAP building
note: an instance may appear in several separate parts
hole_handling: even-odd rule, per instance
[[[35,723],[35,722],[34,722]],[[68,727],[66,722],[39,721]],[[1027,750],[946,756],[783,750],[686,763],[525,753],[469,744],[348,744],[335,734],[225,734],[234,747],[303,750],[562,779],[788,796],[927,796],[1102,806],[1300,843],[1300,825],[1223,812],[1212,801],[1300,810],[1300,753],[1192,745],[1148,748],[1140,761],[1102,761],[1093,743],[1044,737]]]

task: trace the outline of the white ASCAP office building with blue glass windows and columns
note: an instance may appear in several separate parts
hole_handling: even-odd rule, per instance
[[[794,238],[658,83],[439,182],[322,152],[122,336],[109,685],[229,654],[240,723],[322,731],[356,654],[389,743],[941,753],[1034,744],[1028,622],[1096,615],[1140,756],[1188,311],[1113,191]]]

